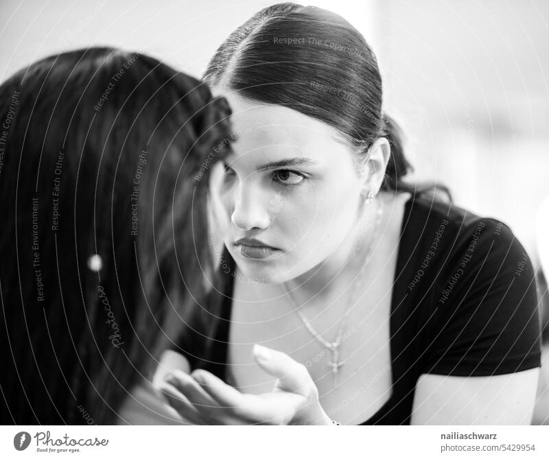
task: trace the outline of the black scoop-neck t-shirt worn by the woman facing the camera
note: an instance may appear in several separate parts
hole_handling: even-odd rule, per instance
[[[196,343],[205,338],[191,331],[183,334],[177,350],[191,368],[206,368],[227,381],[235,262],[226,251],[223,257],[228,281],[211,347],[204,351],[207,346]],[[409,424],[423,373],[488,376],[540,366],[534,272],[508,226],[430,198],[414,196],[406,202],[390,352],[392,395],[364,425]]]

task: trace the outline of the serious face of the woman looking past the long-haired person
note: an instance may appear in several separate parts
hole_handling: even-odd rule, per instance
[[[361,180],[352,152],[296,110],[222,95],[237,139],[212,174],[220,237],[248,278],[294,279],[334,254],[355,226]]]

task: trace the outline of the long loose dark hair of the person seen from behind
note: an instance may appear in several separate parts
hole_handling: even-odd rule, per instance
[[[207,293],[229,115],[195,78],[106,47],[0,86],[1,423],[121,421]]]

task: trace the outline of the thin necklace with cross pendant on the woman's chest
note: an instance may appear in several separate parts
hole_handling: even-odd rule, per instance
[[[372,247],[373,247],[373,241],[376,239],[377,236],[377,228],[379,226],[379,221],[381,220],[381,217],[383,215],[383,201],[379,200],[378,207],[377,207],[377,218],[375,220],[375,226],[373,228],[373,235],[370,239],[368,249],[366,250],[366,256],[364,257],[364,264],[362,265],[362,268],[360,268],[358,279],[355,281],[353,288],[351,290],[351,295],[349,296],[349,301],[347,302],[347,305],[345,306],[345,311],[340,319],[340,327],[338,329],[338,334],[336,336],[336,340],[333,342],[329,342],[325,340],[322,336],[320,336],[320,333],[318,333],[313,326],[310,324],[309,320],[303,316],[303,313],[301,312],[301,305],[297,303],[296,298],[294,297],[294,294],[292,294],[291,290],[288,289],[288,287],[285,285],[285,283],[282,283],[284,290],[290,297],[290,301],[292,301],[292,304],[294,306],[294,309],[296,310],[297,314],[299,314],[299,317],[301,318],[301,321],[303,322],[303,325],[305,325],[305,328],[311,333],[314,339],[316,339],[320,344],[322,344],[328,351],[331,353],[331,362],[328,362],[328,365],[331,366],[331,373],[334,376],[334,387],[338,384],[338,372],[340,366],[344,364],[344,362],[340,362],[340,345],[342,342],[342,336],[343,336],[343,328],[345,323],[347,322],[347,317],[349,317],[349,314],[351,313],[351,310],[353,307],[349,307],[353,304],[353,299],[355,297],[356,292],[358,291],[358,287],[362,285],[364,281],[364,268],[369,263],[372,255]],[[347,261],[349,263],[349,261]]]

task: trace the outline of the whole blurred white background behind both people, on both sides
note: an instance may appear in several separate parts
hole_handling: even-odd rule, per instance
[[[200,77],[224,38],[272,3],[1,0],[0,80],[91,45],[143,51]],[[456,204],[509,224],[539,265],[536,235],[549,234],[536,229],[549,195],[549,2],[306,4],[342,14],[373,46],[416,178],[445,183]]]

